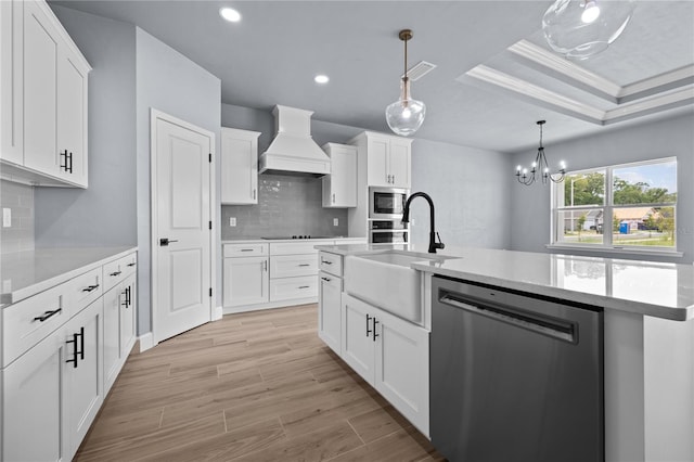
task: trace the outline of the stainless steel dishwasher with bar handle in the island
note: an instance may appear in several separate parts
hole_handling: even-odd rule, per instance
[[[430,435],[451,462],[604,461],[603,313],[434,277]]]

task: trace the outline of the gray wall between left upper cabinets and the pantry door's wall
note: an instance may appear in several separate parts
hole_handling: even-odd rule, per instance
[[[51,8],[93,68],[89,189],[36,188],[36,246],[136,245],[134,26]]]

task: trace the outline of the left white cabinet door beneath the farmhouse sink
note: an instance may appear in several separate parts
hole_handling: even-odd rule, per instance
[[[373,384],[373,307],[347,294],[342,296],[342,358],[367,382]]]

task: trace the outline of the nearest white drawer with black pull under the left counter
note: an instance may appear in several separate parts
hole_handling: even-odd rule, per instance
[[[66,292],[59,285],[2,310],[2,367],[65,323],[70,317]]]

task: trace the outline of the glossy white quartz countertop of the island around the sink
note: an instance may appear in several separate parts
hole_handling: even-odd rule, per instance
[[[417,244],[319,245],[319,251],[364,255],[388,249],[426,253]],[[694,319],[694,266],[558,254],[451,247],[442,261],[412,268],[433,274],[657,318]]]

